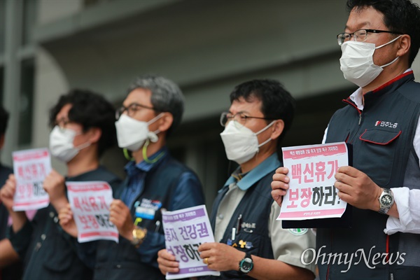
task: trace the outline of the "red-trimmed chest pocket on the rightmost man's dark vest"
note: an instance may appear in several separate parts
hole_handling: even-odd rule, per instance
[[[359,137],[362,152],[359,151],[354,161],[379,186],[388,185],[391,179],[401,133],[401,130],[367,129]]]

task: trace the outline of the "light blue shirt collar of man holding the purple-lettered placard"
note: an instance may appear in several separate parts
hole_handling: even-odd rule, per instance
[[[241,190],[248,190],[253,184],[260,181],[265,175],[274,172],[278,167],[280,167],[280,161],[277,156],[277,153],[270,155],[267,159],[261,162],[257,167],[248,172],[244,178],[237,182],[237,186]],[[240,167],[239,167],[240,168]],[[235,172],[234,172],[235,173]],[[225,186],[229,186],[231,183],[235,183],[236,179],[233,176],[230,176],[228,181],[226,181]]]

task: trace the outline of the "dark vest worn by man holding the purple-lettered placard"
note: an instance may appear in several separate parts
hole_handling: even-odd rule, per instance
[[[251,255],[258,255],[261,258],[273,259],[274,253],[272,249],[271,239],[268,232],[269,214],[272,206],[271,196],[271,182],[273,172],[265,175],[258,182],[253,184],[251,188],[246,190],[246,194],[242,198],[237,209],[233,212],[232,218],[225,230],[221,243],[227,244],[228,239],[232,238],[232,228],[237,227],[237,218],[242,215],[241,226],[237,233],[233,244],[237,244],[236,248],[239,251],[248,252]],[[228,186],[225,186],[216,197],[213,204],[213,211],[211,211],[210,223],[211,228],[214,230],[216,224],[216,215],[219,204],[223,197],[228,193]],[[247,224],[247,225],[246,225]],[[255,228],[249,225],[255,225]],[[248,226],[248,228],[247,228]],[[252,232],[251,232],[252,231]],[[244,242],[251,242],[252,248],[246,248]],[[239,263],[238,263],[239,267]],[[241,274],[237,271],[221,272],[221,276],[204,276],[200,279],[253,279],[252,277]]]

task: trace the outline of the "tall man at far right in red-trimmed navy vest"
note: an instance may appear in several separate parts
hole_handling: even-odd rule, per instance
[[[344,78],[359,86],[332,116],[324,143],[353,145],[353,167],[340,167],[335,188],[353,205],[350,229],[318,229],[320,279],[418,279],[420,275],[420,84],[410,66],[419,52],[420,8],[409,0],[348,0],[337,35]],[[288,170],[273,176],[281,204]],[[366,257],[360,262],[360,255]]]

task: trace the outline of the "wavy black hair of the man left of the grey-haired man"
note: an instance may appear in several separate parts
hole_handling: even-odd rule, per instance
[[[55,118],[63,106],[71,104],[69,120],[83,126],[83,132],[92,127],[102,130],[98,141],[98,155],[101,156],[106,149],[116,145],[116,111],[101,94],[90,90],[71,90],[59,97],[55,106],[50,109],[50,126],[55,126]]]

